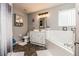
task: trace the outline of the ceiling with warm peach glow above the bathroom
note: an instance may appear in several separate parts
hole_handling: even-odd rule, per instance
[[[14,3],[14,8],[20,9],[21,11],[32,13],[43,9],[55,7],[61,3]]]

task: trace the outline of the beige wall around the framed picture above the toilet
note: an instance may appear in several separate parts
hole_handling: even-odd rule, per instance
[[[14,26],[14,21],[13,21],[13,36],[18,41],[21,39],[19,37],[19,34],[24,35],[24,34],[26,34],[26,32],[28,30],[27,14],[23,13],[22,11],[20,11],[20,9],[17,9],[17,8],[13,8],[13,13],[21,15],[23,17],[23,26],[22,27]]]

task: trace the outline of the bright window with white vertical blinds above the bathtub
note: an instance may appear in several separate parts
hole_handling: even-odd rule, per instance
[[[58,13],[59,26],[76,26],[75,9],[62,10]]]

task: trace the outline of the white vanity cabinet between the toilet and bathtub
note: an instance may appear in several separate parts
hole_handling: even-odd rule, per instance
[[[45,45],[45,31],[30,31],[30,42],[37,45]]]

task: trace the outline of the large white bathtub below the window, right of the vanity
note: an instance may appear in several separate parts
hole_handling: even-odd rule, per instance
[[[64,48],[71,54],[74,54],[73,31],[47,30],[46,38],[51,43],[54,43],[61,48]]]

